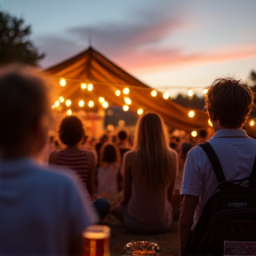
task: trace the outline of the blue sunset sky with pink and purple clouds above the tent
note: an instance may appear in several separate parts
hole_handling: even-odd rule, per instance
[[[92,46],[171,97],[256,70],[255,0],[0,0],[23,18],[47,68]],[[91,36],[89,36],[91,35]],[[200,92],[196,90],[199,94]]]

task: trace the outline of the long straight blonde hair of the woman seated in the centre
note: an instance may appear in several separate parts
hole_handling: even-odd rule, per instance
[[[156,113],[140,116],[133,149],[137,150],[139,179],[150,188],[172,185],[176,178],[175,157],[172,159],[164,120]],[[174,155],[174,154],[173,154]]]

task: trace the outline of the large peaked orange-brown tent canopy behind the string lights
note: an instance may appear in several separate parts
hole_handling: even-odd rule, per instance
[[[157,92],[156,97],[152,97],[151,87],[141,83],[92,47],[44,71],[54,82],[58,97],[71,100],[72,105],[69,108],[73,111],[81,108],[85,111],[97,111],[103,108],[99,97],[108,102],[105,103],[105,108],[111,105],[123,107],[129,98],[132,100],[127,105],[129,110],[137,112],[141,108],[144,112],[155,111],[172,128],[190,132],[208,126],[208,117],[204,111],[193,109],[195,116],[188,117],[191,109],[184,108],[170,99],[164,100],[162,92]],[[65,86],[60,86],[61,78],[66,80]],[[81,84],[87,84],[87,89],[83,90]],[[93,85],[92,91],[88,90],[88,84]],[[124,88],[129,88],[130,92],[124,94]],[[118,90],[120,95],[116,96]],[[85,102],[84,106],[81,105],[83,107],[78,105],[80,100]],[[90,100],[94,103],[91,108],[88,107]],[[64,103],[60,103],[60,110],[67,110]]]

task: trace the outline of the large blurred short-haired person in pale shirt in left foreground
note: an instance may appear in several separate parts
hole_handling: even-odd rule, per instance
[[[36,69],[1,70],[1,255],[81,255],[84,228],[98,221],[76,176],[36,164],[50,106]]]

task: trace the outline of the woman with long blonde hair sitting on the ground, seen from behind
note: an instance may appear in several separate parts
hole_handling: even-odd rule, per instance
[[[124,200],[113,214],[134,233],[170,231],[177,170],[178,156],[169,147],[164,120],[152,112],[141,116],[133,148],[124,155]]]

